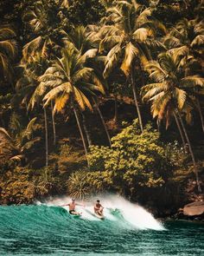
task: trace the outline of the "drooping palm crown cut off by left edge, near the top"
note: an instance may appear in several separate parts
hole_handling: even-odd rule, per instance
[[[0,28],[0,75],[12,81],[12,61],[17,54],[16,33],[9,27]]]

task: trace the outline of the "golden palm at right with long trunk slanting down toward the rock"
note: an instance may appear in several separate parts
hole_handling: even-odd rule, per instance
[[[198,170],[194,159],[194,152],[188,138],[188,132],[182,121],[182,111],[188,106],[189,85],[191,87],[203,87],[204,80],[199,75],[185,75],[185,69],[182,67],[182,57],[173,55],[169,52],[159,56],[158,61],[149,62],[146,65],[150,73],[150,79],[155,83],[147,84],[143,87],[143,99],[151,102],[151,111],[153,117],[158,120],[166,119],[168,128],[172,116],[175,117],[182,141],[187,140],[188,148],[194,164],[194,173],[196,176],[197,186],[201,191]],[[179,125],[181,123],[181,125]]]

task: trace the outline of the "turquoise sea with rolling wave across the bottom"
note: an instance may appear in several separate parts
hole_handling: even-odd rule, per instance
[[[0,207],[0,255],[204,255],[202,224],[162,225],[128,203],[126,212],[106,209],[105,220],[89,214],[91,209],[76,219],[56,206]],[[130,221],[129,209],[137,212]]]

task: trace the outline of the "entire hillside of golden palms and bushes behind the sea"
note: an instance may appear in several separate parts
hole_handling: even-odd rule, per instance
[[[203,14],[200,0],[1,1],[0,205],[112,192],[203,220]]]

